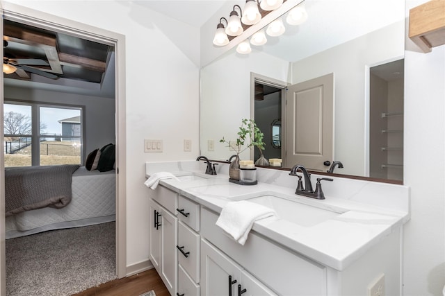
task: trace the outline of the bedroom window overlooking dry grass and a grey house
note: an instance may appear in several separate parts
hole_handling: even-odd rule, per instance
[[[8,102],[3,118],[5,167],[81,164],[80,107]]]

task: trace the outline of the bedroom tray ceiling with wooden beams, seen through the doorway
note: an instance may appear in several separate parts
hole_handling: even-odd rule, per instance
[[[4,74],[6,86],[114,97],[113,46],[9,20],[3,26],[3,64],[17,68]]]

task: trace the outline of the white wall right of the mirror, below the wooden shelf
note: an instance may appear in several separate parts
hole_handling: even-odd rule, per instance
[[[424,2],[408,0],[407,10]],[[412,212],[403,243],[405,296],[442,295],[445,285],[445,46],[419,51],[407,40],[404,183]]]

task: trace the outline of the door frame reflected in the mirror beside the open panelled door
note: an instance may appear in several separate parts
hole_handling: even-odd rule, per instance
[[[291,84],[282,80],[250,72],[250,119],[255,119],[255,82],[261,82],[261,84],[281,89],[281,122],[286,122],[286,93],[287,87]],[[284,161],[286,160],[286,137],[284,136],[286,134],[285,124],[282,124],[281,134],[281,158],[282,163],[284,164]],[[254,159],[254,149],[250,149],[250,159]]]

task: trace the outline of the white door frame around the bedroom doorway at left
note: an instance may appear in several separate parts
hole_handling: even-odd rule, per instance
[[[116,275],[127,275],[127,168],[126,168],[126,110],[125,110],[125,36],[106,31],[88,24],[83,24],[47,12],[17,6],[13,3],[0,4],[3,19],[10,19],[23,24],[76,35],[88,40],[115,47],[115,134],[116,134]],[[3,20],[0,25],[3,35]],[[0,49],[3,55],[3,48]],[[3,85],[3,75],[0,78]],[[0,139],[3,141],[3,92],[0,92]],[[5,250],[5,186],[4,156],[0,156],[0,295],[6,294],[6,250]]]

